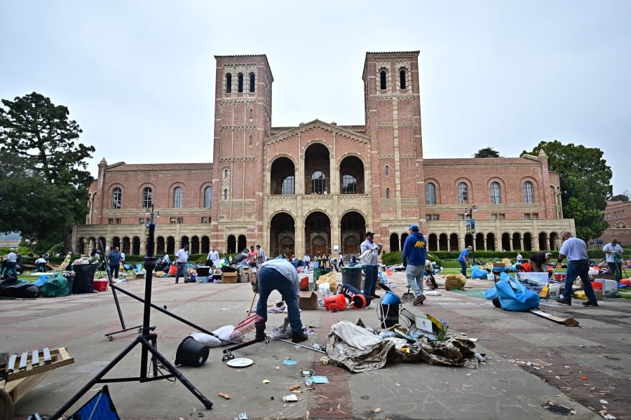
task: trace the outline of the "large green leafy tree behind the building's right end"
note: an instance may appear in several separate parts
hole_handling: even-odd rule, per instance
[[[602,151],[555,140],[541,141],[532,151],[523,153],[536,156],[541,150],[548,155],[550,171],[559,173],[563,213],[566,218],[574,218],[576,236],[585,240],[599,237],[609,227],[602,210],[613,190],[613,173]]]

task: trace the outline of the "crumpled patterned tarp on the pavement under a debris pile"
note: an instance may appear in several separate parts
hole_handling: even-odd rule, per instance
[[[353,325],[353,324],[351,324]],[[363,330],[362,327],[354,325]],[[338,330],[339,331],[339,330]],[[464,337],[447,336],[444,342],[429,341],[426,337],[419,340],[417,353],[407,353],[396,348],[395,342],[382,339],[365,350],[355,349],[346,344],[344,334],[351,329],[344,328],[342,336],[332,328],[327,339],[327,355],[337,365],[345,366],[351,372],[368,372],[392,363],[429,363],[430,365],[458,366],[477,369],[475,344]],[[352,332],[351,332],[352,333]],[[340,345],[341,344],[341,345]]]

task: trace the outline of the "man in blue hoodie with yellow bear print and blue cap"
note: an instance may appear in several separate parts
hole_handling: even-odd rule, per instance
[[[427,255],[427,244],[423,234],[419,232],[419,225],[410,225],[409,236],[403,244],[403,267],[405,267],[405,276],[407,283],[414,292],[414,306],[423,304],[426,300],[423,295],[423,282],[425,279],[425,260]]]

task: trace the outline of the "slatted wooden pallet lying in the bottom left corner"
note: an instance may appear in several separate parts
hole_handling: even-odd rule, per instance
[[[50,372],[74,363],[66,347],[50,350],[48,347],[16,353],[8,357],[8,363],[0,366],[0,391],[7,393],[13,402],[18,402]],[[6,379],[4,379],[6,378]]]

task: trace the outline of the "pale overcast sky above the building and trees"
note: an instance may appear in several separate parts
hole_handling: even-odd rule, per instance
[[[264,53],[272,124],[364,122],[367,51],[420,50],[425,158],[599,147],[631,190],[631,1],[0,0],[0,98],[63,104],[97,163],[212,162],[214,55]]]

